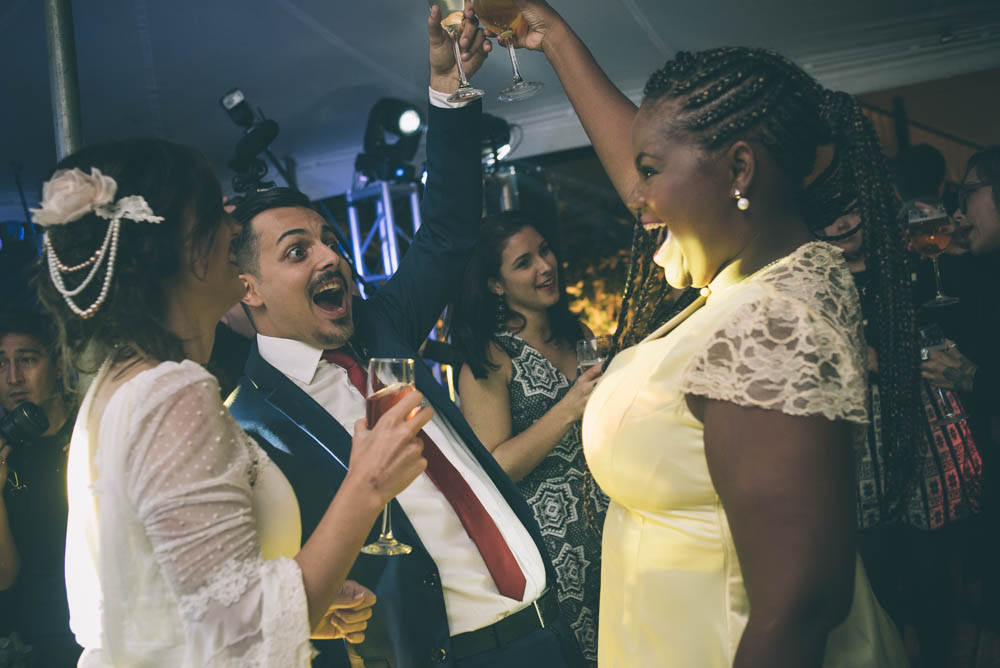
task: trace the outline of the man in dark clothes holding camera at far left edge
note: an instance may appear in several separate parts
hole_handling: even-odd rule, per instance
[[[37,313],[0,311],[0,406],[0,665],[76,665],[63,573],[75,407]]]

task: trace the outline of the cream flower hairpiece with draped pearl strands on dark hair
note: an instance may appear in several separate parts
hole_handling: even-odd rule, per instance
[[[90,174],[80,169],[60,169],[42,186],[42,206],[31,209],[35,223],[43,227],[66,225],[75,222],[93,212],[110,220],[104,241],[87,260],[80,264],[69,266],[64,264],[52,247],[52,240],[45,235],[45,252],[49,264],[49,276],[56,290],[66,301],[73,313],[81,318],[89,318],[101,307],[108,296],[111,277],[115,273],[115,258],[118,255],[118,235],[121,231],[122,218],[135,222],[159,223],[163,216],[157,216],[149,208],[149,204],[140,195],[130,195],[115,201],[118,183],[110,176],[101,173],[96,167],[90,168]],[[107,258],[107,262],[104,259]],[[104,284],[97,299],[86,308],[77,306],[73,297],[83,292],[97,276],[101,265],[105,265]],[[83,271],[90,267],[86,278],[72,290],[66,288],[63,280],[65,274]]]

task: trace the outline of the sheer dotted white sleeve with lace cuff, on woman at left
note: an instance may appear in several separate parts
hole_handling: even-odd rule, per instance
[[[292,559],[261,557],[251,505],[260,452],[214,378],[170,376],[133,414],[125,480],[177,597],[185,665],[308,666],[302,573]]]

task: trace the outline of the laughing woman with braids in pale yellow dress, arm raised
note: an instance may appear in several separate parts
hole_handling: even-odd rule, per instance
[[[906,665],[855,544],[854,448],[868,420],[858,296],[802,208],[832,143],[848,165],[837,178],[859,187],[880,317],[912,319],[885,253],[902,234],[870,125],[849,96],[748,48],[678,54],[637,109],[555,11],[518,4],[518,41],[559,75],[637,214],[636,248],[655,243],[667,283],[701,289],[661,324],[650,287],[662,278],[633,272],[619,336],[635,345],[584,414],[587,460],[611,497],[599,665]],[[908,410],[888,419],[908,429]],[[905,457],[890,463],[902,475]]]

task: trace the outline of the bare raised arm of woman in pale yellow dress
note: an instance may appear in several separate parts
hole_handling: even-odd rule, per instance
[[[547,3],[516,0],[525,19],[518,44],[542,51],[559,76],[618,195],[628,201],[636,182],[632,119],[636,106],[611,82],[569,24]]]

